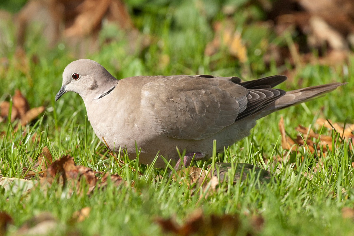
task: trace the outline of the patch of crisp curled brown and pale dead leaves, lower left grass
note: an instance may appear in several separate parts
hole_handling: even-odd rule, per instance
[[[109,174],[101,171],[93,171],[92,168],[76,165],[74,158],[63,155],[60,159],[52,162],[52,156],[45,146],[38,156],[38,166],[41,171],[23,167],[23,179],[1,177],[0,186],[5,192],[16,193],[21,190],[27,193],[30,189],[40,184],[42,188],[48,188],[53,182],[67,186],[69,194],[74,191],[77,194],[90,194],[95,188],[102,189],[108,182],[119,186],[123,182],[118,174]],[[88,185],[86,191],[80,188],[80,183]]]

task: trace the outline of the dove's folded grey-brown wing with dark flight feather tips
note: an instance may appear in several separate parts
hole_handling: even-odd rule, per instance
[[[257,89],[240,83],[238,77],[152,76],[142,96],[163,123],[162,132],[178,139],[204,139],[265,109],[282,94],[269,85],[263,88],[262,82],[255,83]]]

